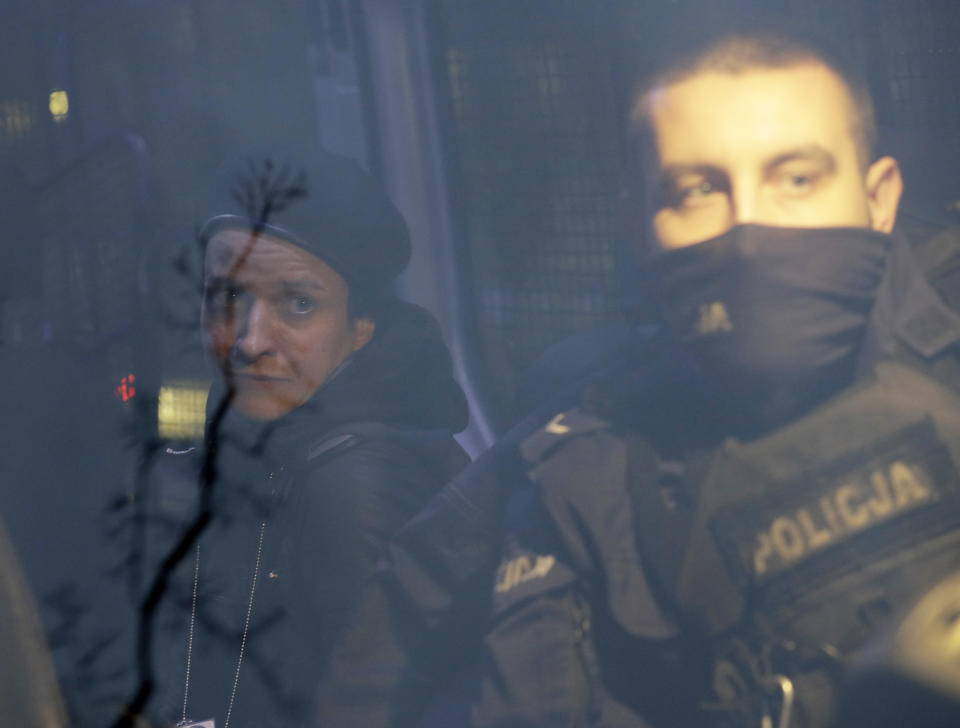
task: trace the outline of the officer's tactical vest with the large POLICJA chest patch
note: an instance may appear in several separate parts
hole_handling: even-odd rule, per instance
[[[829,725],[845,658],[960,570],[960,393],[919,370],[682,463],[628,449],[645,568],[712,656],[700,725]]]

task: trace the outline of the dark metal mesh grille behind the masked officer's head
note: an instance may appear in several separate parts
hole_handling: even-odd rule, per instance
[[[525,0],[437,4],[464,279],[494,409],[551,343],[620,314],[615,210],[628,82],[680,26],[758,14],[865,71],[908,207],[960,197],[960,3]],[[930,170],[936,174],[929,174]],[[951,197],[952,195],[952,197]],[[906,217],[906,216],[905,216]]]

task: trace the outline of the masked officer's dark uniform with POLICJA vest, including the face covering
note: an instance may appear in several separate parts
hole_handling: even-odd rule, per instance
[[[960,319],[905,244],[843,231],[830,260],[834,232],[745,226],[655,263],[663,345],[522,446],[474,725],[826,725],[844,657],[960,569]],[[781,260],[757,283],[724,246]],[[729,344],[764,304],[810,340]]]

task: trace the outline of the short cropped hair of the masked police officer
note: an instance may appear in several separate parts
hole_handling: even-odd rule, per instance
[[[733,32],[688,50],[675,52],[638,84],[631,99],[630,127],[634,141],[652,141],[648,96],[653,89],[715,71],[739,74],[754,69],[789,68],[819,62],[833,71],[848,91],[857,152],[864,170],[873,161],[877,125],[870,90],[856,67],[822,40],[793,37],[778,31]]]

